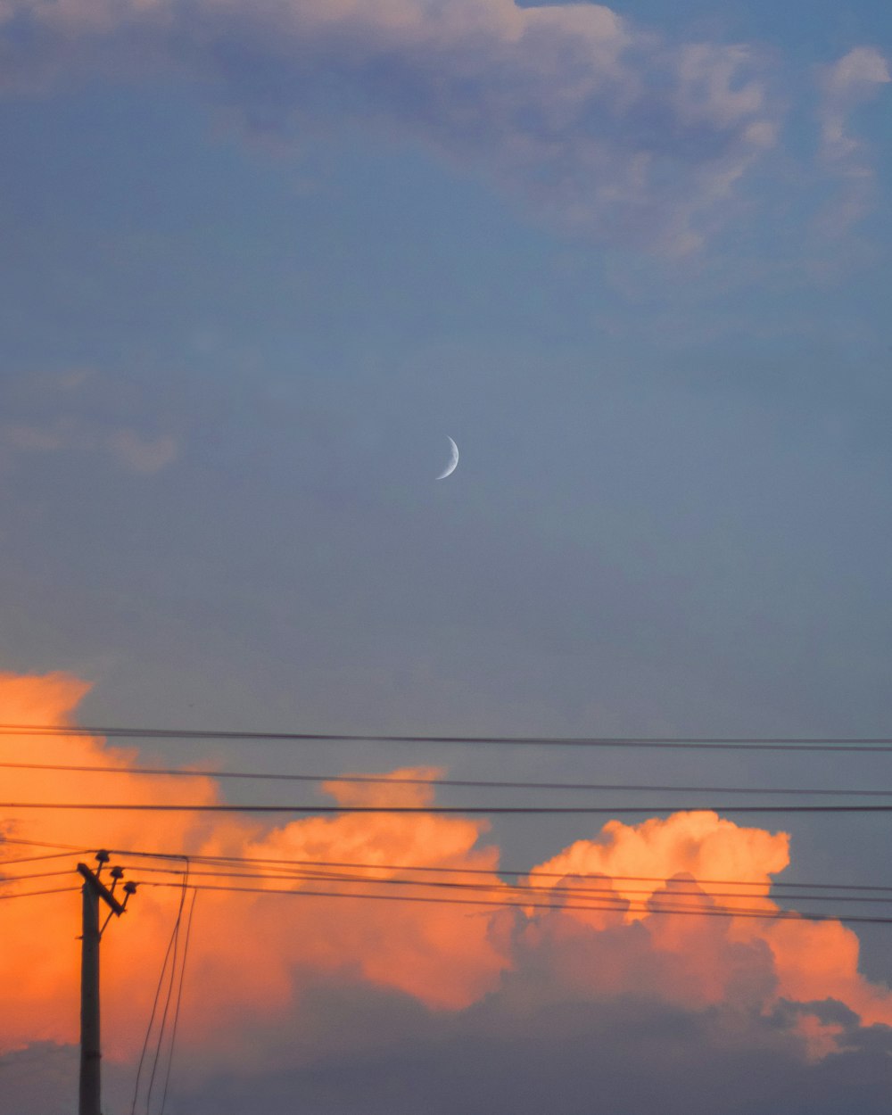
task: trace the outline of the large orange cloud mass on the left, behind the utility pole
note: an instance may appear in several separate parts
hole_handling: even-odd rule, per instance
[[[58,675],[0,677],[0,719],[7,724],[64,725],[87,688]],[[91,738],[0,737],[0,759],[16,762],[25,755],[40,763],[106,766],[126,766],[137,757],[134,749],[106,747]],[[404,775],[409,773],[419,778],[436,774],[420,770]],[[0,778],[3,801],[221,801],[210,777],[4,769]],[[342,804],[382,802],[388,791],[387,786],[360,782],[329,787]],[[387,799],[424,805],[430,796],[428,786],[404,785],[394,786]],[[272,830],[243,816],[192,812],[8,809],[0,818],[0,833],[8,837],[79,847],[389,864],[376,873],[381,879],[397,874],[394,866],[400,864],[472,867],[485,872],[478,876],[484,885],[501,891],[504,884],[495,873],[497,851],[476,846],[485,828],[483,821],[426,813],[309,817]],[[126,856],[115,859],[128,862]],[[130,860],[128,876],[151,884],[161,876],[145,869],[156,865]],[[266,874],[275,875],[277,869],[270,866]],[[72,884],[77,881],[72,873]],[[198,876],[196,881],[230,882]],[[60,885],[55,880],[52,883]],[[23,884],[22,889],[33,885]],[[237,885],[318,889],[274,878],[245,879]],[[338,884],[338,889],[346,886]],[[177,902],[176,891],[144,885],[123,923],[113,924],[104,938],[105,978],[115,989],[106,1010],[113,1019],[106,1027],[110,1056],[127,1057],[142,1041]],[[0,927],[8,942],[0,958],[0,986],[9,989],[3,991],[4,1009],[0,1010],[0,1047],[37,1038],[77,1039],[78,923],[77,895],[0,903]],[[269,1017],[289,1008],[300,993],[301,971],[352,973],[416,996],[433,1008],[456,1009],[492,990],[505,963],[489,941],[488,917],[468,913],[463,906],[204,893],[195,915],[188,977],[192,1009],[184,1018],[184,1038],[225,1037],[234,1019]],[[22,969],[25,975],[20,976]]]

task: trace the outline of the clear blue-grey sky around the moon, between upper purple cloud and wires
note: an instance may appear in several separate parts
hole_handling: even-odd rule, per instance
[[[770,37],[750,49],[799,119],[695,249],[617,241],[609,206],[555,227],[552,200],[531,212],[474,152],[444,164],[386,119],[259,134],[222,104],[237,88],[163,74],[9,95],[7,561],[32,586],[8,597],[10,665],[99,670],[118,718],[144,669],[154,699],[188,677],[210,712],[221,666],[251,690],[270,671],[289,716],[321,649],[310,707],[337,727],[882,731],[880,101],[849,156],[870,205],[816,229],[846,188],[802,120],[832,57]],[[462,467],[432,485],[447,434]],[[174,643],[206,624],[229,665],[172,657],[184,607]],[[607,698],[618,643],[628,691]],[[566,690],[515,715],[503,652]],[[425,660],[408,708],[380,692],[377,670],[408,683]],[[784,696],[754,709],[782,663]],[[455,699],[468,675],[476,704]]]

